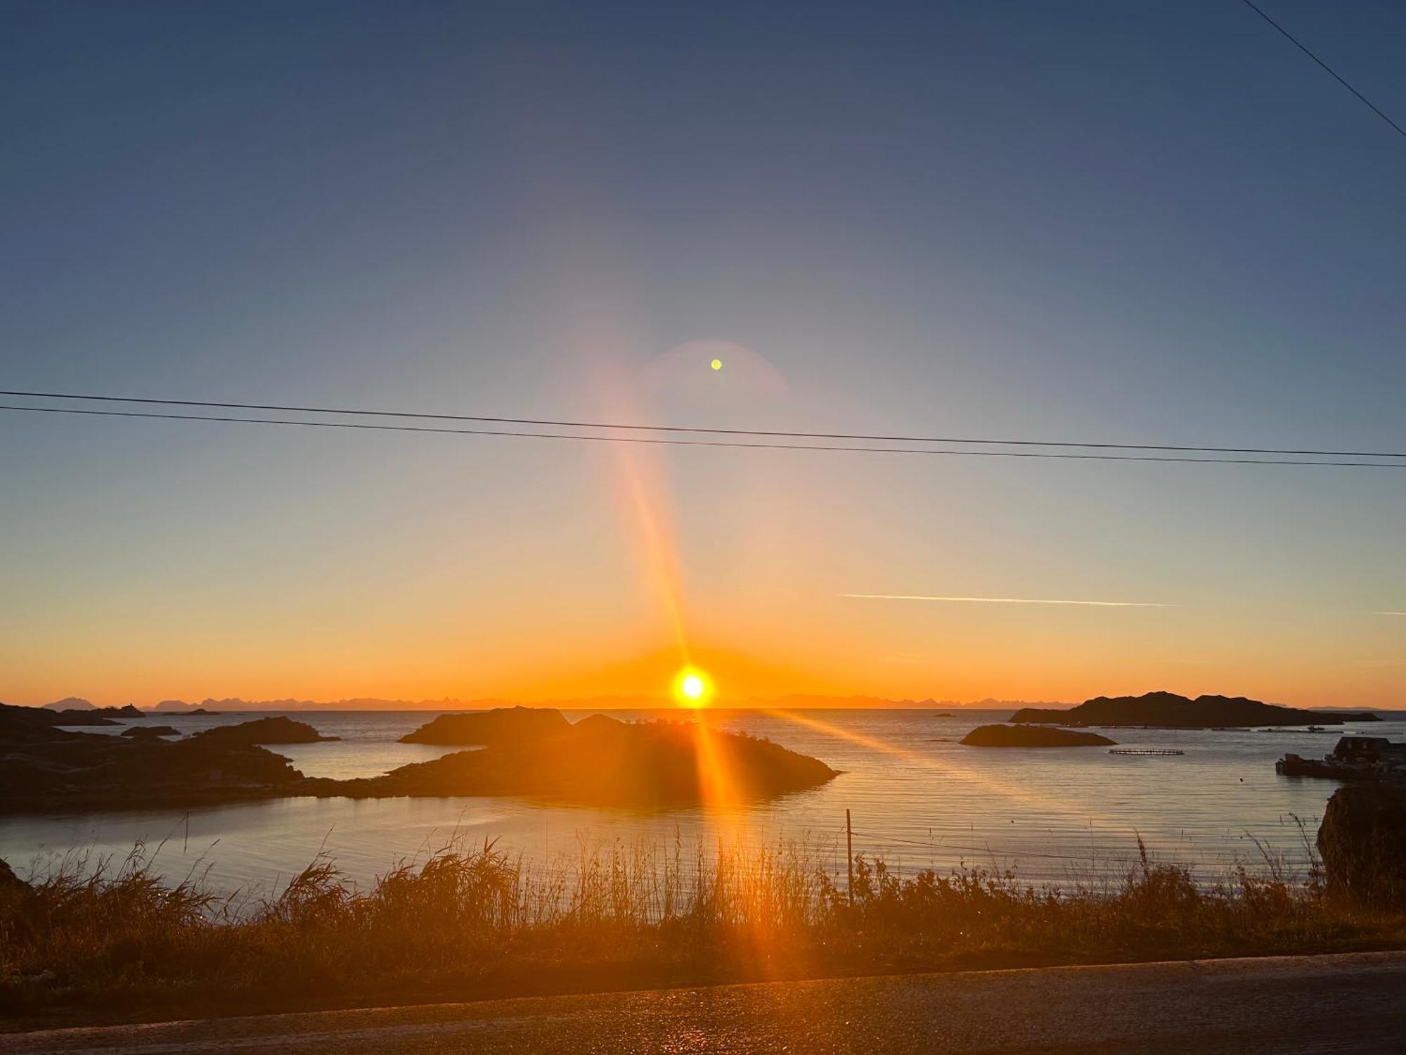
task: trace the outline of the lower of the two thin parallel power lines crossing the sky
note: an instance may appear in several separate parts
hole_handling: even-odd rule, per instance
[[[205,421],[238,425],[291,425],[308,429],[359,429],[371,432],[419,432],[450,436],[512,436],[517,439],[557,439],[585,443],[647,443],[669,447],[735,447],[744,450],[824,450],[855,454],[938,454],[949,457],[988,459],[1060,459],[1071,461],[1180,461],[1192,466],[1323,466],[1339,468],[1406,468],[1406,463],[1392,461],[1308,461],[1289,459],[1220,459],[1180,457],[1167,454],[1071,454],[1053,450],[934,450],[929,447],[852,447],[837,443],[747,443],[741,440],[699,440],[665,436],[598,436],[564,432],[516,432],[510,429],[446,429],[432,425],[367,425],[361,422],[288,421],[284,418],[232,418],[214,414],[156,414],[153,411],[87,411],[73,407],[13,407],[0,404],[0,411],[28,414],[70,414],[98,418],[146,418],[159,421]]]

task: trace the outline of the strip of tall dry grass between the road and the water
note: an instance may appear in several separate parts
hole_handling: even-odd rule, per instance
[[[1153,861],[1028,885],[903,878],[856,857],[853,899],[815,848],[582,847],[533,868],[461,841],[356,890],[319,858],[277,896],[166,883],[138,847],[0,888],[0,1016],[17,1028],[395,1002],[907,971],[1406,945],[1406,914],[1331,896],[1317,869],[1194,882]],[[1271,862],[1274,865],[1274,862]]]

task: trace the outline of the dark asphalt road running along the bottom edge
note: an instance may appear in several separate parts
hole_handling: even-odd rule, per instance
[[[1406,1052],[1406,952],[769,982],[0,1035],[38,1052]]]

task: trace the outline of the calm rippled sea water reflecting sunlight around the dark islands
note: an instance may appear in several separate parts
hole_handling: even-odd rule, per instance
[[[336,743],[278,746],[311,776],[370,776],[453,750],[395,740],[437,712],[290,712]],[[582,712],[585,713],[585,712]],[[638,717],[619,713],[619,717]],[[1175,747],[1178,757],[1119,757],[1107,748],[1017,750],[962,747],[973,726],[1007,710],[817,710],[792,716],[716,713],[724,729],[769,737],[815,755],[842,775],[824,788],[717,817],[700,809],[666,812],[546,806],[520,799],[280,799],[198,810],[0,816],[0,857],[41,871],[72,852],[125,855],[136,841],[165,840],[159,869],[184,876],[209,867],[222,888],[269,892],[321,851],[367,883],[451,834],[495,838],[543,868],[564,867],[582,845],[711,843],[723,829],[754,841],[799,840],[844,868],[845,810],[855,851],[880,852],[904,871],[963,861],[1012,867],[1029,879],[1121,871],[1140,836],[1166,859],[1212,876],[1227,865],[1263,868],[1263,844],[1302,862],[1294,817],[1309,834],[1337,788],[1330,781],[1278,776],[1285,751],[1319,755],[1341,727],[1302,731],[1112,730],[1123,747]],[[243,722],[253,715],[174,719],[181,730]],[[575,717],[575,715],[572,715]],[[1372,734],[1406,738],[1406,713],[1382,712]],[[96,730],[93,730],[96,731]],[[114,733],[121,730],[111,730]]]

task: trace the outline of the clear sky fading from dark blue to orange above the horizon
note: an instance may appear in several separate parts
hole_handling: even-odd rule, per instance
[[[1406,120],[1406,10],[1263,7]],[[1406,139],[1232,0],[11,1],[0,135],[6,390],[1406,450]],[[0,699],[1406,708],[1403,523],[1402,470],[0,411]]]

